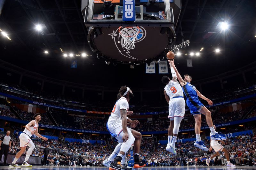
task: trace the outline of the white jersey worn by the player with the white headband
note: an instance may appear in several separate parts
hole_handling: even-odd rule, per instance
[[[120,120],[120,121],[122,121],[121,120],[121,113],[120,113],[121,109],[125,109],[127,111],[129,109],[129,103],[126,100],[125,97],[121,97],[119,100],[116,101],[116,104],[115,104],[108,120]]]

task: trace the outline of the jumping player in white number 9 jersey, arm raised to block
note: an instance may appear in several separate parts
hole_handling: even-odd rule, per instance
[[[166,151],[177,154],[175,150],[175,143],[179,133],[180,122],[182,121],[185,114],[185,100],[183,97],[182,88],[177,81],[176,73],[170,64],[172,72],[172,80],[167,76],[162,77],[162,83],[166,86],[164,87],[164,96],[169,104],[169,116],[170,125],[168,128],[168,143],[166,146]]]

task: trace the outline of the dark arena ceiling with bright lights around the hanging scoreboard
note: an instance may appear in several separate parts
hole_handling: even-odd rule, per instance
[[[159,87],[158,74],[145,74],[145,64],[107,65],[97,59],[86,41],[80,0],[6,0],[0,16],[0,29],[11,40],[1,36],[1,59],[42,75],[76,83],[119,87]],[[227,31],[218,30],[219,22],[227,22]],[[36,24],[43,26],[37,32]],[[243,67],[255,61],[256,3],[253,0],[182,0],[182,10],[176,26],[176,44],[189,40],[176,57],[182,74],[194,80],[211,77]],[[157,43],[157,42],[152,42]],[[201,48],[200,56],[189,56]],[[65,52],[88,56],[63,57]],[[220,53],[214,52],[220,48]],[[48,50],[49,54],[44,54]],[[193,67],[187,67],[192,59]],[[77,68],[71,69],[71,61]],[[143,80],[143,81],[141,81]]]

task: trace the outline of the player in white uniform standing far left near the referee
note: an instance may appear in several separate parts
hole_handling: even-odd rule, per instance
[[[20,134],[20,152],[18,152],[12,161],[12,163],[9,165],[10,167],[20,167],[18,164],[16,164],[16,161],[20,158],[20,156],[26,151],[27,146],[29,147],[26,158],[21,166],[27,166],[31,167],[32,165],[28,164],[28,158],[30,157],[32,151],[35,148],[35,144],[32,142],[30,137],[32,135],[36,135],[38,137],[41,137],[45,141],[48,140],[46,137],[43,137],[38,133],[38,122],[41,120],[41,115],[39,113],[34,115],[35,120],[32,120],[29,122],[26,126],[24,131]]]

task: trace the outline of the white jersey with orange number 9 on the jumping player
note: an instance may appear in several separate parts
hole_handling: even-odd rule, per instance
[[[182,96],[183,91],[180,86],[180,83],[177,81],[169,81],[169,83],[164,87],[166,94],[172,99],[173,97]]]

